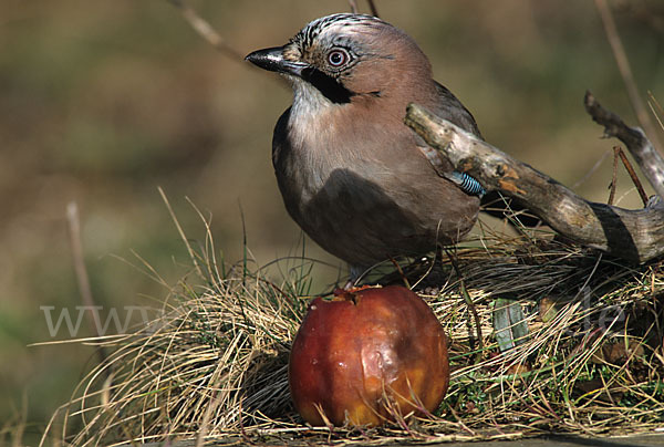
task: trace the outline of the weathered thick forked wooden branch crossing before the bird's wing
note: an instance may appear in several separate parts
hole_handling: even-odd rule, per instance
[[[625,144],[657,194],[664,196],[664,160],[643,132],[602,108],[590,93],[585,95],[585,107],[608,136]],[[636,210],[591,202],[416,104],[408,105],[405,123],[433,147],[426,156],[435,168],[443,166],[440,157],[447,158],[486,189],[517,199],[564,237],[635,262],[664,253],[662,200],[651,200],[649,207]]]

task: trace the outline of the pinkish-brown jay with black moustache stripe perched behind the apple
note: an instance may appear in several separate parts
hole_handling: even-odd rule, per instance
[[[406,33],[372,15],[338,13],[246,60],[292,85],[272,141],[279,189],[304,232],[349,263],[351,281],[473,228],[484,188],[452,165],[436,174],[403,119],[414,102],[477,137],[479,129]]]

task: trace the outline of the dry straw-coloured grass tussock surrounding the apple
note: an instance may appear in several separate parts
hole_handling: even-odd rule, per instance
[[[303,425],[289,402],[287,364],[315,262],[282,261],[279,283],[246,263],[226,270],[210,254],[208,233],[201,250],[189,247],[193,274],[174,288],[159,318],[97,341],[112,354],[53,416],[44,441],[384,444],[664,426],[661,262],[630,267],[546,233],[476,242],[404,269],[453,341],[450,389],[433,419],[381,429]],[[401,280],[393,273],[381,282]],[[504,353],[491,325],[498,298],[519,300],[530,330]]]

